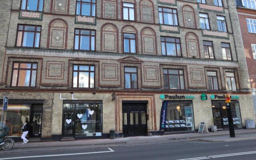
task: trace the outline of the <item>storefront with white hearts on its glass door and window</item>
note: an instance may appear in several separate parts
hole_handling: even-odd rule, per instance
[[[62,137],[102,136],[102,100],[64,100]]]

